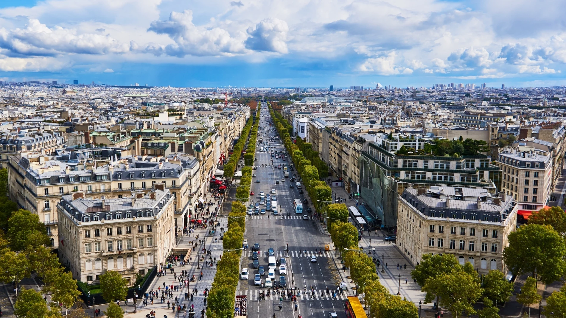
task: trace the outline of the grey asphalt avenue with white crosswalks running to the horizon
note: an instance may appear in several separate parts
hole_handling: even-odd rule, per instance
[[[261,113],[263,116],[260,118],[258,142],[260,137],[263,137],[265,143],[265,141],[269,142],[268,136],[275,136],[277,132],[275,128],[269,127],[271,118],[267,105],[263,105]],[[271,146],[274,145],[276,150],[282,150],[285,153],[285,147],[281,144],[281,141],[271,142]],[[251,197],[251,202],[248,202],[248,204],[255,204],[255,202],[260,201],[260,191],[267,194],[270,193],[271,189],[276,189],[275,195],[279,215],[274,216],[272,212],[268,211],[265,215],[253,215],[251,219],[246,220],[245,238],[248,240],[249,249],[242,252],[242,268],[247,267],[250,274],[248,280],[240,281],[236,294],[247,295],[248,317],[273,318],[273,313],[275,313],[276,318],[294,318],[298,315],[302,315],[304,318],[324,318],[328,317],[329,312],[336,311],[338,318],[345,318],[344,300],[346,295],[338,296],[336,299],[332,298],[332,290],[337,288],[341,280],[335,266],[336,263],[340,262],[336,260],[335,263],[332,254],[324,251],[325,244],[332,246],[331,239],[320,233],[312,218],[312,213],[307,213],[306,209],[303,211],[304,214],[308,215],[307,220],[304,220],[302,215],[295,214],[294,199],[301,199],[302,201],[304,197],[299,194],[296,185],[293,189],[290,189],[290,178],[284,178],[284,170],[261,167],[261,164],[271,165],[272,159],[273,165],[289,164],[289,158],[286,158],[285,161],[273,158],[270,153],[261,151],[261,145],[256,148],[256,158],[258,159],[255,162],[257,169],[254,173],[256,177],[252,178],[251,185],[251,191],[254,191],[255,195]],[[296,169],[294,172],[290,171],[289,174],[290,177],[293,174],[296,175]],[[285,181],[281,181],[282,178]],[[260,183],[255,183],[256,180],[259,180]],[[276,180],[280,180],[280,183],[276,184]],[[260,208],[265,208],[265,206],[260,206]],[[283,216],[283,219],[281,219],[281,216]],[[267,289],[261,290],[259,286],[254,285],[254,276],[258,273],[258,269],[252,268],[251,256],[254,243],[260,245],[259,265],[265,268],[265,276],[261,276],[263,282],[267,278],[267,250],[271,247],[275,250],[277,259],[285,258],[288,267],[288,273],[285,275],[287,287],[296,286],[297,289],[301,290],[297,302],[297,311],[294,311],[294,304],[286,297],[282,300],[282,310],[279,311],[280,296],[277,294],[271,294],[269,297],[265,297],[265,300],[260,301],[258,299],[261,291],[265,291],[267,294]],[[287,244],[289,244],[289,256],[285,257]],[[320,255],[319,250],[322,250]],[[310,261],[310,256],[314,254],[318,258],[317,262]],[[280,277],[278,267],[275,271],[275,277],[278,282]],[[310,292],[311,286],[315,290],[314,295]],[[304,293],[305,287],[308,291],[307,294]],[[327,288],[331,291],[329,296],[326,293]]]

